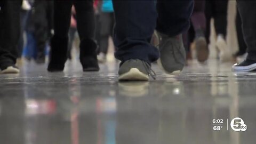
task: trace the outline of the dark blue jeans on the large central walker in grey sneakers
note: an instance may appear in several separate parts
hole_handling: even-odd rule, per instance
[[[140,59],[153,62],[157,49],[150,44],[154,29],[176,36],[189,28],[194,1],[113,1],[116,24],[115,57],[121,61]]]

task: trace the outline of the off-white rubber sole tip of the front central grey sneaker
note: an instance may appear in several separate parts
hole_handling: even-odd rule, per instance
[[[127,73],[119,76],[119,81],[148,81],[148,75],[142,73],[137,68],[131,68]]]

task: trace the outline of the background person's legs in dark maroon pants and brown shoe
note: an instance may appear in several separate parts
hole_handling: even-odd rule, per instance
[[[196,58],[199,62],[204,62],[209,57],[209,49],[205,39],[205,1],[195,1],[194,10],[190,18],[191,26],[183,34],[183,42],[187,49],[187,56],[191,55],[190,45],[195,42]]]

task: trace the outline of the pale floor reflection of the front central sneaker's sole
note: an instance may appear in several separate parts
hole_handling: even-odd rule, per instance
[[[127,97],[142,97],[149,93],[149,82],[119,82],[119,94]]]

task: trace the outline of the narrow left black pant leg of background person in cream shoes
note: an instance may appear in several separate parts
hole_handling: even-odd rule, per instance
[[[210,43],[210,33],[211,33],[211,18],[213,16],[213,1],[205,1],[205,19],[206,19],[206,27],[205,27],[205,38],[207,44]]]

